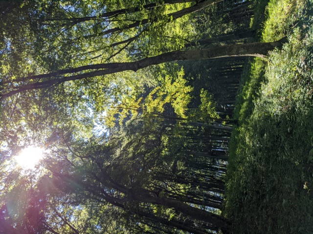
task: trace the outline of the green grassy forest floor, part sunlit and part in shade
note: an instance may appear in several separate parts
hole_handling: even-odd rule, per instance
[[[289,42],[242,76],[223,214],[234,234],[313,233],[313,0],[266,15],[260,40]]]

